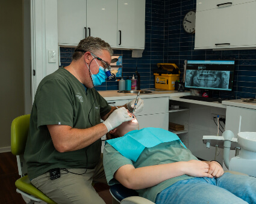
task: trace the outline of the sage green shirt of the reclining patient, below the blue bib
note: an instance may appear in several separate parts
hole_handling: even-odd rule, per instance
[[[123,157],[116,149],[110,144],[106,143],[103,151],[103,164],[105,175],[107,178],[108,185],[114,185],[119,183],[114,179],[114,173],[126,164],[131,164],[135,168],[154,166],[157,164],[175,163],[178,161],[190,161],[198,160],[189,149],[181,146],[178,140],[166,143],[160,143],[152,148],[145,148],[140,154],[136,162]],[[172,169],[170,169],[170,172]],[[165,188],[174,184],[177,181],[184,179],[194,178],[193,176],[182,175],[175,178],[167,179],[160,184],[154,185],[153,187],[136,190],[139,196],[145,197],[146,199],[155,202],[157,194],[163,191]]]

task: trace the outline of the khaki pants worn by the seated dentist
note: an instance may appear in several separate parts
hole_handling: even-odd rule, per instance
[[[84,173],[83,175],[75,175],[60,170],[60,178],[51,180],[49,172],[34,178],[31,183],[40,191],[50,197],[56,203],[77,203],[77,204],[101,204],[105,203],[99,197],[98,193],[92,186],[92,182],[105,182],[105,172],[101,160],[95,169],[67,169],[73,173]]]

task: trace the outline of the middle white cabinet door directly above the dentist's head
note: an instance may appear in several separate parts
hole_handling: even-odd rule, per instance
[[[87,36],[99,37],[116,47],[117,0],[87,0]]]

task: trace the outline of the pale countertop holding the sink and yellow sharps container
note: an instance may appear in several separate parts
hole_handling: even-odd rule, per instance
[[[140,98],[155,98],[155,97],[181,97],[183,95],[190,95],[190,92],[178,92],[178,91],[168,91],[168,90],[157,90],[154,91],[154,89],[143,89],[145,91],[152,91],[150,94],[140,94]],[[125,100],[125,99],[134,99],[136,98],[137,94],[123,94],[117,92],[117,90],[114,91],[99,91],[99,94],[105,100]]]

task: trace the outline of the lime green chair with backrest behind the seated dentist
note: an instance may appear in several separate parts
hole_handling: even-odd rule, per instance
[[[34,185],[31,184],[30,179],[28,179],[27,166],[23,159],[23,154],[25,151],[29,127],[30,115],[19,116],[11,122],[11,153],[17,157],[17,166],[19,175],[21,176],[21,178],[17,179],[15,182],[17,187],[16,191],[17,193],[22,194],[22,196],[31,199],[29,203],[46,202],[55,204],[53,200],[49,199],[49,197],[34,187]]]

